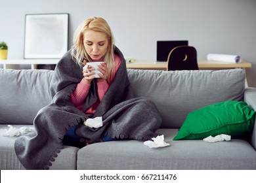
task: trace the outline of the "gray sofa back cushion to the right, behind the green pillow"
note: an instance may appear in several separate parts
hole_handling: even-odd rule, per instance
[[[162,128],[180,128],[188,112],[221,101],[242,101],[245,74],[242,69],[219,71],[150,71],[128,69],[137,97],[156,103]]]

